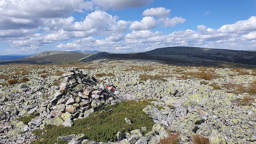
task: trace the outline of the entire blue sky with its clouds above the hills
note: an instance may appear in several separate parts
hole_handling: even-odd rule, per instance
[[[256,49],[255,0],[0,0],[0,54]]]

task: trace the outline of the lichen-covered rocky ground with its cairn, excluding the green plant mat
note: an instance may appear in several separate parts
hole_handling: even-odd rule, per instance
[[[168,136],[168,130],[179,131],[182,143],[192,143],[195,133],[212,143],[256,143],[255,70],[160,65],[0,67],[1,143],[31,143],[39,138],[31,133],[34,129],[47,124],[72,126],[74,120],[121,99],[153,104],[143,111],[156,124],[145,136],[143,127],[124,136],[117,133],[119,143],[157,143]],[[115,85],[117,91],[112,92],[119,98],[92,77]],[[27,124],[19,121],[29,114],[35,117]],[[67,139],[97,143],[84,140],[83,134]]]

